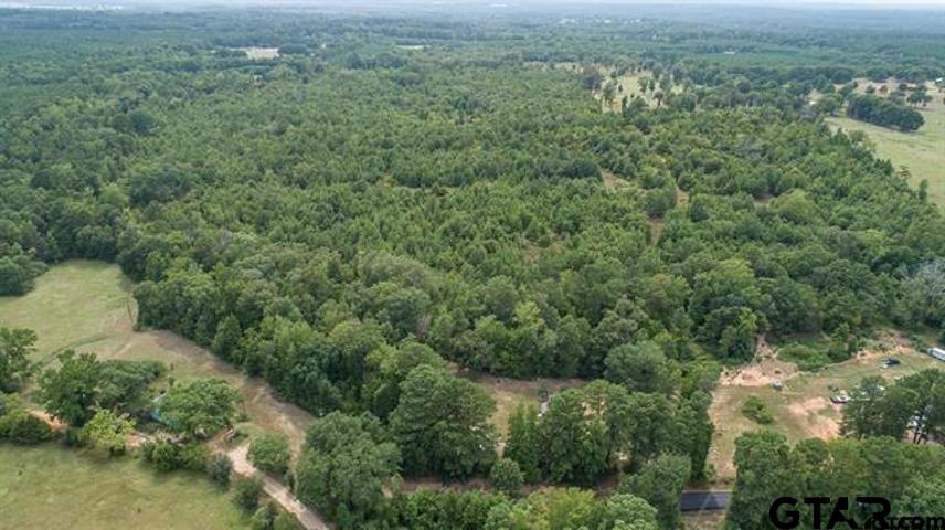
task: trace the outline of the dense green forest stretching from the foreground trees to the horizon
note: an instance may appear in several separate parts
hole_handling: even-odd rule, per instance
[[[870,31],[0,10],[0,295],[117,262],[139,326],[325,416],[296,488],[343,528],[543,528],[565,506],[574,528],[676,528],[705,477],[708,393],[760,336],[820,336],[842,361],[878,326],[945,331],[945,219],[810,103],[945,75],[941,34]],[[455,367],[599,381],[517,411],[499,458],[495,404]],[[807,466],[792,480],[880,451],[760,435],[742,469],[752,444]],[[606,501],[383,500],[399,471],[490,470],[513,492],[628,475]],[[760,517],[736,505],[733,528]]]

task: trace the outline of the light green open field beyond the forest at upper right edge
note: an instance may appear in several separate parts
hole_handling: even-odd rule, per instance
[[[859,92],[868,81],[860,80]],[[928,197],[939,206],[945,205],[945,94],[931,88],[934,97],[927,107],[919,107],[925,118],[915,132],[900,132],[846,117],[828,118],[827,123],[845,130],[861,130],[875,145],[877,155],[890,159],[896,168],[905,166],[912,173],[914,187],[923,179],[928,181]]]

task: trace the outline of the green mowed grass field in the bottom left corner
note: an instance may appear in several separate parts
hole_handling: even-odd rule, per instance
[[[0,528],[10,530],[227,530],[249,528],[205,477],[160,475],[47,444],[0,445]]]

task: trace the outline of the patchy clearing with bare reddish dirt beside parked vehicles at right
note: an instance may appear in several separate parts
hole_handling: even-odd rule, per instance
[[[880,360],[890,356],[899,358],[902,364],[881,368]],[[715,467],[716,478],[726,483],[735,476],[732,463],[735,439],[742,433],[764,428],[741,412],[750,395],[758,398],[774,415],[774,423],[767,427],[784,433],[792,443],[808,437],[829,439],[839,434],[842,417],[840,405],[830,403],[835,393],[831,388],[848,390],[867,375],[893,379],[926,368],[941,369],[942,362],[909,348],[898,337],[888,336],[880,347],[817,372],[796,372],[789,363],[772,360],[723,378],[710,409],[715,434],[709,462]],[[783,380],[784,389],[774,390],[768,384],[773,379]]]

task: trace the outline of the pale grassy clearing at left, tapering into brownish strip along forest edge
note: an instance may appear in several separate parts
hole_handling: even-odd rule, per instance
[[[0,297],[0,325],[24,327],[39,336],[34,360],[47,361],[64,348],[92,351],[104,359],[159,360],[176,380],[217,377],[243,393],[251,434],[286,434],[297,447],[314,418],[277,400],[268,385],[245,377],[193,342],[167,331],[135,331],[137,311],[131,284],[116,265],[68,262],[36,279],[22,297]]]

